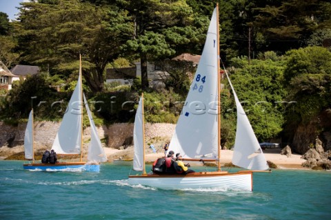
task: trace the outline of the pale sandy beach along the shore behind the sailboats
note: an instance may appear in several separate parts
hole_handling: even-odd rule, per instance
[[[130,150],[118,150],[115,148],[104,148],[105,153],[109,159],[110,162],[112,162],[113,159],[118,159],[119,157],[124,157],[125,159],[128,159],[128,155],[131,155],[132,152]],[[130,152],[130,153],[128,153]],[[265,159],[267,161],[270,161],[277,165],[279,169],[293,169],[293,168],[301,168],[301,164],[305,162],[305,159],[301,159],[301,155],[298,154],[292,154],[290,157],[287,157],[286,155],[280,154],[281,149],[266,149],[263,151],[265,155]],[[233,151],[230,150],[222,150],[221,151],[221,164],[227,164],[231,162]],[[147,162],[154,162],[155,159],[158,157],[163,157],[163,153],[147,153],[145,155]],[[129,156],[130,157],[130,156]]]

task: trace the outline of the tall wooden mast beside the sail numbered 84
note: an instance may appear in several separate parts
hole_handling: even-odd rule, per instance
[[[218,122],[218,137],[217,137],[217,148],[218,148],[218,160],[217,160],[217,171],[221,171],[221,92],[220,83],[221,76],[219,76],[219,3],[216,4],[216,14],[217,14],[217,122]]]

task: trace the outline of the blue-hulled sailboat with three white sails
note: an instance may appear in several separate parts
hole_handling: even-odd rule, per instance
[[[83,101],[85,102],[86,111],[90,120],[91,140],[88,147],[88,162],[83,162],[82,157],[82,137],[83,137]],[[30,117],[33,117],[33,111],[29,116],[29,122],[26,128],[25,151],[26,159],[32,159],[33,156],[33,119],[30,122]],[[101,146],[101,141],[97,133],[97,128],[93,122],[92,114],[88,107],[85,96],[82,92],[81,83],[81,61],[79,68],[79,79],[74,92],[70,98],[68,109],[63,115],[59,131],[52,145],[57,155],[80,155],[79,162],[57,162],[55,164],[34,163],[34,159],[30,164],[23,164],[23,168],[27,170],[100,170],[100,162],[106,162],[107,157]],[[31,156],[32,154],[32,156]]]

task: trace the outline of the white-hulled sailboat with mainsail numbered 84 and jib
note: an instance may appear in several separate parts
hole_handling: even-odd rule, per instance
[[[187,175],[146,174],[129,176],[130,184],[164,189],[218,188],[252,190],[252,173],[268,169],[263,152],[232,87],[237,105],[237,136],[232,163],[248,170],[229,173],[221,170],[220,76],[218,5],[214,9],[201,60],[194,75],[182,114],[177,122],[169,151],[185,160],[214,160],[217,170]],[[230,78],[228,78],[230,81]]]

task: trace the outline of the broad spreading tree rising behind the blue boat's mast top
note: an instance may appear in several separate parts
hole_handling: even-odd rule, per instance
[[[132,32],[126,13],[78,0],[22,3],[16,23],[22,59],[50,72],[76,72],[83,56],[83,76],[101,91],[106,65],[119,56]],[[52,73],[51,73],[52,74]]]

